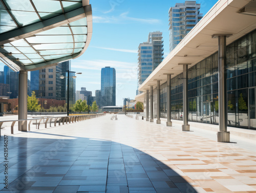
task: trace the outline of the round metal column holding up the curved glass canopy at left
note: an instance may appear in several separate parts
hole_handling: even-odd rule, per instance
[[[18,75],[18,119],[28,118],[28,72],[19,71]],[[18,122],[18,130],[27,131],[27,121],[22,127],[22,122]]]

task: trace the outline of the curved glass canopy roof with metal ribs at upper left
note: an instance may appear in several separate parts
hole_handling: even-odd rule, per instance
[[[14,71],[79,57],[91,36],[89,0],[0,0],[0,59]]]

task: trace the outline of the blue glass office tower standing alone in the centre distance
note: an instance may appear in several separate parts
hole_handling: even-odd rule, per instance
[[[101,69],[101,105],[116,105],[116,70],[114,68]]]

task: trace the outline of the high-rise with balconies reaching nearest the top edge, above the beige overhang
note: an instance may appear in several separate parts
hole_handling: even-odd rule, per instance
[[[172,51],[188,32],[197,25],[203,14],[200,13],[201,4],[196,1],[177,3],[169,9],[169,48]]]

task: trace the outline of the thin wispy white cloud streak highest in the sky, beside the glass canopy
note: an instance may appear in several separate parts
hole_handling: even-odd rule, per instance
[[[115,17],[115,16],[93,16],[93,22],[94,23],[122,23],[124,21],[133,21],[143,24],[159,24],[161,20],[159,19],[153,19],[153,18],[136,18],[136,17],[129,17],[129,12],[124,12],[121,15]]]

